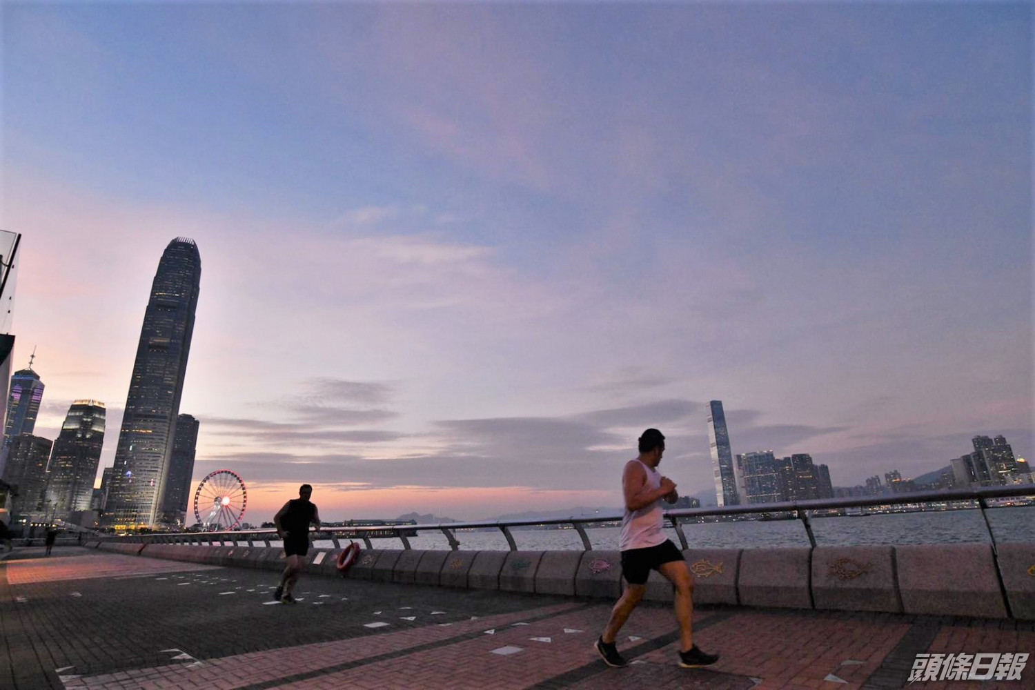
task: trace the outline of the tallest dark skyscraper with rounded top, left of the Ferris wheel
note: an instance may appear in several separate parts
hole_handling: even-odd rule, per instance
[[[190,239],[173,240],[151,284],[115,449],[105,523],[117,530],[150,527],[158,516],[200,286],[198,246]]]

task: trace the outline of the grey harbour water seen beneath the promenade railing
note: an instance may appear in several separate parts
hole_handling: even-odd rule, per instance
[[[997,543],[1035,543],[1035,506],[993,508],[986,511]],[[915,513],[878,513],[862,516],[812,517],[812,534],[818,546],[853,544],[938,544],[992,541],[980,510],[952,510]],[[586,531],[595,549],[617,549],[618,528],[594,528]],[[672,529],[670,538],[679,543]],[[690,546],[707,548],[763,548],[808,546],[808,536],[801,520],[745,520],[737,522],[690,523],[683,526]],[[582,549],[582,539],[572,529],[513,529],[519,549]],[[455,534],[463,550],[507,550],[506,538],[499,530],[461,531]],[[410,546],[418,549],[448,549],[445,535],[421,531],[410,537]],[[398,539],[372,539],[374,548],[402,548]],[[330,548],[330,541],[317,541],[317,547]]]

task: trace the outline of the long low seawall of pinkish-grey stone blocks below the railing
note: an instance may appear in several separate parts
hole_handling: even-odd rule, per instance
[[[264,546],[86,544],[144,557],[280,570],[284,552]],[[342,549],[312,549],[310,574],[339,576]],[[743,606],[888,611],[1035,620],[1035,544],[924,544],[727,548],[683,551],[694,601]],[[359,553],[346,577],[479,590],[614,598],[621,592],[618,551],[442,551],[376,549]],[[672,588],[658,573],[647,598]]]

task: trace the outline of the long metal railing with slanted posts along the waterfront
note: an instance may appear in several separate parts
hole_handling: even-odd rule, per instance
[[[682,549],[688,548],[686,535],[683,533],[683,524],[694,521],[702,517],[727,517],[750,516],[766,514],[769,519],[797,519],[801,520],[808,542],[816,547],[816,537],[812,534],[811,518],[816,516],[836,516],[835,515],[812,515],[817,511],[839,511],[848,508],[867,507],[888,507],[920,506],[921,504],[942,504],[943,510],[968,510],[978,508],[984,518],[985,527],[992,539],[993,548],[996,548],[996,537],[988,522],[985,512],[989,508],[988,502],[998,499],[1012,499],[1019,497],[1035,498],[1035,485],[1024,484],[1014,486],[995,486],[976,489],[947,489],[941,491],[922,491],[917,493],[899,493],[892,496],[874,496],[866,498],[852,499],[821,499],[818,501],[792,501],[787,503],[750,504],[744,506],[729,506],[723,508],[683,508],[664,511],[664,519],[675,530]],[[976,505],[948,505],[970,503]],[[923,508],[914,510],[904,510],[901,512],[916,512]],[[589,534],[586,532],[587,526],[598,526],[619,522],[622,519],[620,513],[613,515],[594,515],[592,517],[556,517],[542,519],[525,520],[494,520],[481,522],[442,522],[436,524],[373,524],[373,526],[347,526],[347,527],[325,527],[321,530],[313,530],[313,539],[328,540],[335,548],[341,548],[342,539],[361,539],[366,548],[373,548],[371,539],[373,538],[394,538],[398,539],[403,548],[411,548],[408,534],[419,532],[441,532],[449,544],[449,548],[457,550],[460,541],[456,538],[457,530],[499,530],[511,551],[518,550],[511,531],[514,528],[538,527],[553,524],[570,524],[579,537],[582,539],[585,550],[592,550]],[[756,518],[757,519],[757,518]],[[265,546],[270,546],[271,541],[277,541],[276,530],[235,530],[231,532],[184,532],[184,533],[155,533],[148,535],[136,535],[132,537],[112,537],[114,539],[129,540],[139,543],[149,544],[198,544],[204,545],[238,545],[246,543],[255,546],[260,542]]]

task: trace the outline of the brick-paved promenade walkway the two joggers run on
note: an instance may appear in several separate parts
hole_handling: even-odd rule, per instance
[[[1035,624],[699,607],[698,643],[721,660],[676,665],[670,607],[622,630],[632,663],[592,649],[612,602],[275,575],[77,547],[0,562],[0,688],[901,688],[921,652],[1035,652]],[[1021,681],[911,688],[1035,688]]]

